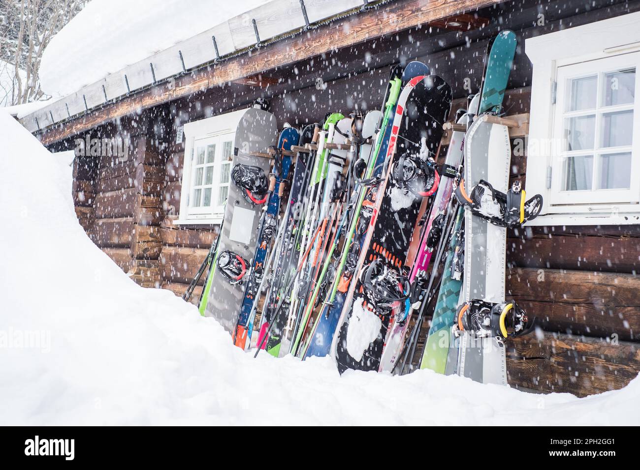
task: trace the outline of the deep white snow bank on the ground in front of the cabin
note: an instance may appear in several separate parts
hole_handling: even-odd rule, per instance
[[[68,154],[0,109],[0,425],[637,424],[640,379],[589,398],[328,357],[253,359],[212,318],[145,289],[77,223]]]

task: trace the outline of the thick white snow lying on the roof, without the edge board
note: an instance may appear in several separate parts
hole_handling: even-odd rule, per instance
[[[268,1],[92,0],[45,49],[42,90],[69,95]]]

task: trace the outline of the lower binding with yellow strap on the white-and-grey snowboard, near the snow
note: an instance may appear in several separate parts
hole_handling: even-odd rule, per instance
[[[479,337],[499,338],[500,341],[524,336],[536,326],[536,317],[527,317],[515,301],[495,304],[473,299],[458,307],[456,317],[457,334],[474,331]]]

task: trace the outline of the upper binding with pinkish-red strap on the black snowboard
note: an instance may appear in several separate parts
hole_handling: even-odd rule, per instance
[[[440,175],[432,158],[420,158],[419,155],[403,153],[393,171],[393,178],[401,189],[413,192],[416,196],[431,196],[440,183]]]

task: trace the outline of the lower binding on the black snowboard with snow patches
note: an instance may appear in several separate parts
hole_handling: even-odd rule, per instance
[[[410,295],[410,283],[406,276],[387,266],[380,258],[373,260],[362,273],[362,289],[378,313],[390,313]]]

